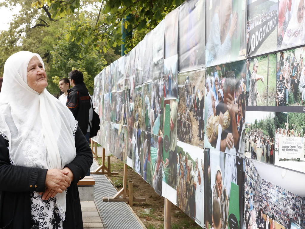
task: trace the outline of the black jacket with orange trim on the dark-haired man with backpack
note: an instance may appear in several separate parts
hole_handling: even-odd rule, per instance
[[[86,135],[89,125],[90,96],[84,82],[68,90],[67,107],[72,111],[79,128]]]

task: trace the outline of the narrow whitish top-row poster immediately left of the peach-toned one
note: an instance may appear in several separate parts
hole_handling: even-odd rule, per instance
[[[164,25],[162,20],[153,29],[153,45],[152,45],[152,80],[163,78],[164,73]],[[161,39],[160,39],[161,38]]]

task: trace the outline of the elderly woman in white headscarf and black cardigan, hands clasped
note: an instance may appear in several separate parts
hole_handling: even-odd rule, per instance
[[[38,54],[13,54],[3,76],[0,227],[83,228],[77,182],[93,158],[77,121],[45,89]]]

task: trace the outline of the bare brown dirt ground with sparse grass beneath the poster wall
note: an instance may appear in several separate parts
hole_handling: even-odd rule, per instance
[[[123,186],[124,163],[114,156],[110,157],[111,171],[119,172],[118,176],[110,176],[108,179],[119,191]],[[99,164],[101,159],[99,159]],[[148,229],[161,229],[164,223],[164,198],[159,196],[154,189],[138,173],[127,166],[127,180],[134,182],[134,196],[146,198],[146,202],[134,202],[133,211]],[[173,229],[199,229],[193,220],[175,205],[172,206],[171,228]]]

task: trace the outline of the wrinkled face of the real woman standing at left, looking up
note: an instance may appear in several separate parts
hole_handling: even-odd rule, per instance
[[[38,93],[48,86],[45,69],[37,56],[33,56],[27,66],[27,85]]]

